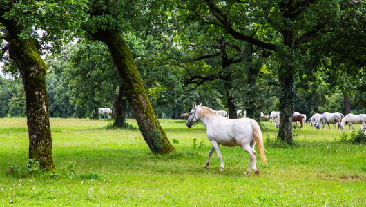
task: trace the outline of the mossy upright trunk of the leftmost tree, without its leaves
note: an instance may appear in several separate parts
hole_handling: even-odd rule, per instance
[[[35,39],[20,39],[22,28],[17,23],[0,19],[8,30],[10,59],[15,61],[26,93],[26,115],[29,135],[29,159],[39,161],[41,169],[55,168],[52,159],[52,138],[48,117],[46,64]]]

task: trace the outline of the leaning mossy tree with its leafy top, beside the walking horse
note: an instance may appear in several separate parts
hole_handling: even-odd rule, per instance
[[[158,2],[159,3],[159,2]],[[102,41],[108,46],[113,62],[124,84],[126,98],[133,110],[139,129],[153,153],[168,154],[175,150],[168,141],[166,134],[146,96],[139,72],[121,32],[124,26],[137,21],[133,15],[143,10],[149,12],[155,5],[146,8],[143,2],[126,2],[126,4],[110,1],[93,1],[90,6],[90,19],[84,23],[83,29],[91,39]],[[139,10],[140,11],[140,10]],[[131,21],[131,22],[129,22]],[[120,23],[125,25],[120,25]]]

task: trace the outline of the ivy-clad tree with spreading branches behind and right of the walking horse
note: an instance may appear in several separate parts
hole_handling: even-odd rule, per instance
[[[281,86],[278,139],[291,143],[295,80],[300,69],[297,65],[298,48],[336,17],[334,3],[311,0],[204,2],[205,5],[189,1],[186,8],[235,39],[251,43],[268,54],[273,52],[278,59],[277,74]]]

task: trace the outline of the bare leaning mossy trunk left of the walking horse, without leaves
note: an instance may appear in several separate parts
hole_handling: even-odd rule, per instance
[[[139,72],[121,34],[117,30],[99,29],[97,32],[90,32],[90,35],[108,46],[113,62],[122,78],[124,91],[139,125],[139,130],[151,152],[166,155],[175,151],[146,97]]]

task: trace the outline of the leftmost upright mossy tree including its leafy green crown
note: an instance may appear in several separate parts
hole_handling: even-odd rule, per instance
[[[39,161],[40,168],[46,170],[52,170],[55,165],[52,159],[52,138],[45,81],[47,67],[41,59],[41,44],[35,31],[45,28],[43,26],[50,23],[48,30],[52,31],[50,32],[52,35],[44,35],[44,40],[50,37],[48,40],[55,41],[57,39],[52,38],[55,37],[54,34],[64,30],[59,24],[68,26],[74,22],[70,21],[75,14],[68,10],[71,8],[70,6],[73,6],[73,11],[79,12],[74,3],[71,3],[73,5],[68,2],[58,3],[59,5],[44,1],[0,3],[2,39],[7,42],[3,48],[3,54],[8,50],[10,59],[15,61],[26,94],[29,159]],[[45,24],[45,22],[47,23]],[[62,29],[60,30],[60,28]]]

